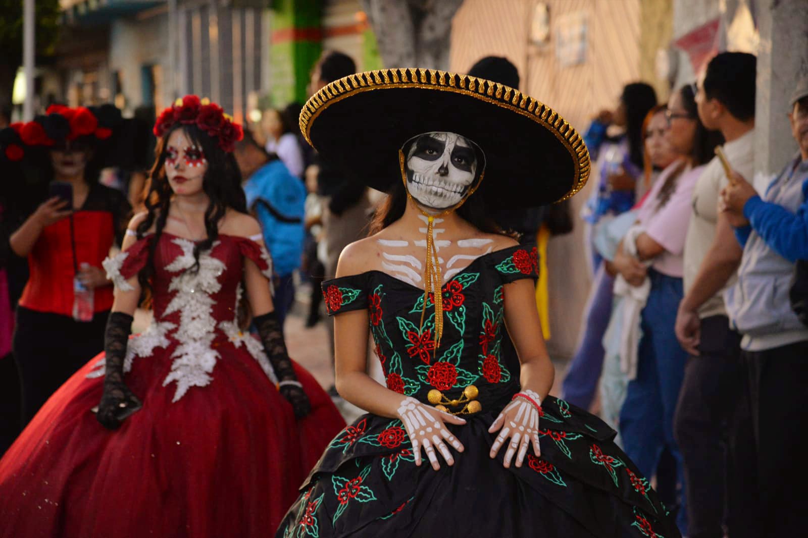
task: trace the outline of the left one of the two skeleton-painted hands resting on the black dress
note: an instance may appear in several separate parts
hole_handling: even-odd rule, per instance
[[[435,451],[440,451],[441,456],[449,465],[454,464],[454,458],[444,443],[444,439],[452,445],[457,452],[463,452],[463,444],[452,432],[446,429],[444,422],[452,424],[465,424],[465,420],[452,414],[436,410],[434,407],[425,406],[414,397],[406,397],[402,400],[396,411],[398,417],[402,419],[406,432],[410,435],[412,452],[415,456],[415,464],[421,464],[421,448],[426,452],[427,458],[436,471],[440,469]]]

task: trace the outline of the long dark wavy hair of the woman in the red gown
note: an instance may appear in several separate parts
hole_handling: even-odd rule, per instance
[[[149,246],[149,263],[146,263],[144,270],[138,275],[138,280],[144,289],[149,289],[149,278],[154,274],[154,252],[157,250],[162,230],[166,227],[171,195],[174,194],[166,178],[164,165],[168,139],[171,133],[177,129],[183,129],[188,139],[202,148],[205,159],[208,161],[208,170],[205,171],[202,179],[202,190],[210,200],[208,208],[204,212],[204,227],[208,237],[194,246],[196,263],[191,267],[191,271],[199,270],[200,253],[210,250],[213,242],[219,238],[219,221],[225,216],[227,209],[247,212],[246,198],[242,190],[242,174],[238,170],[233,153],[221,149],[217,139],[208,136],[207,132],[201,131],[195,124],[176,124],[165,135],[158,138],[157,149],[155,149],[157,159],[149,172],[149,187],[144,201],[148,213],[137,226],[138,239],[144,237],[152,225],[155,227],[154,241]]]

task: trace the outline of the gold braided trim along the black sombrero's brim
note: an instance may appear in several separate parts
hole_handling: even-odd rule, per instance
[[[526,116],[552,132],[570,152],[574,162],[575,180],[570,191],[560,200],[570,198],[587,184],[591,168],[587,145],[583,143],[583,138],[578,132],[558,115],[558,112],[509,86],[438,69],[380,69],[351,74],[331,82],[312,95],[301,111],[300,128],[306,141],[314,147],[309,137],[311,126],[320,113],[331,104],[338,103],[350,95],[386,88],[449,91],[469,95]]]

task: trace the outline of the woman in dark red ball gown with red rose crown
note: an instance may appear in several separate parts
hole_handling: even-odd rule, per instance
[[[231,153],[241,128],[187,96],[155,132],[148,212],[104,263],[105,353],[0,460],[0,536],[269,536],[344,426],[286,354]],[[154,322],[130,338],[144,291]],[[260,338],[239,329],[244,300]]]

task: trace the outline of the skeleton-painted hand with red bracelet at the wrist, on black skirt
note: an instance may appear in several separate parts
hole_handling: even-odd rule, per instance
[[[511,437],[511,443],[505,452],[505,467],[511,466],[511,460],[516,450],[516,467],[521,467],[524,456],[528,452],[528,445],[533,442],[533,452],[536,456],[541,456],[539,448],[539,410],[541,409],[541,398],[532,390],[524,390],[513,397],[502,413],[499,414],[494,423],[488,429],[490,433],[502,428],[494,444],[491,445],[490,456],[493,458],[499,452],[499,448],[505,443],[505,439]]]

